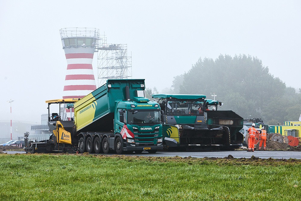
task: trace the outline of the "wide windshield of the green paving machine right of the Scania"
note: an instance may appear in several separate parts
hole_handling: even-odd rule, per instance
[[[203,115],[203,103],[200,101],[168,101],[167,115]]]

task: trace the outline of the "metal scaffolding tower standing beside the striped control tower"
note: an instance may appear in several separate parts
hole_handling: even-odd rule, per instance
[[[132,78],[132,55],[127,55],[126,44],[108,44],[106,35],[101,35],[97,44],[98,87],[108,79]]]

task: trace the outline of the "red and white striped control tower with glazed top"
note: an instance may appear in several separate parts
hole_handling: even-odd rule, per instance
[[[60,30],[67,60],[63,99],[82,98],[96,89],[92,68],[99,30],[95,28],[64,28]],[[66,109],[70,117],[70,109]]]

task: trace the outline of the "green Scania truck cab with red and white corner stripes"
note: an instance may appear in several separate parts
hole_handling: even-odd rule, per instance
[[[136,153],[143,150],[155,153],[163,149],[161,112],[157,102],[144,97],[116,101],[114,129],[110,148],[116,149],[117,153],[120,149]]]

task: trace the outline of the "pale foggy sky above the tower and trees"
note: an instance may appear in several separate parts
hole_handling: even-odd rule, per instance
[[[300,1],[1,0],[0,120],[10,119],[12,99],[13,120],[39,124],[45,100],[62,97],[67,62],[59,30],[67,27],[98,28],[108,43],[127,44],[133,78],[159,92],[198,58],[220,54],[255,56],[299,88],[300,8]]]

